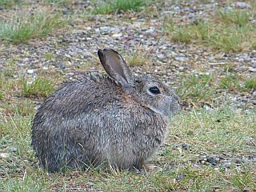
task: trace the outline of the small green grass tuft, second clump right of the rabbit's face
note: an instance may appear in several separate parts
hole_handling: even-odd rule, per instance
[[[225,90],[239,90],[242,88],[237,74],[226,74],[224,78],[220,80],[218,86]]]

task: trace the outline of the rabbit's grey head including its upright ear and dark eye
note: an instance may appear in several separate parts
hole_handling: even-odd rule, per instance
[[[126,62],[115,50],[98,50],[106,73],[118,82],[127,98],[133,98],[155,113],[169,116],[179,110],[178,96],[170,87],[147,76],[133,77]]]

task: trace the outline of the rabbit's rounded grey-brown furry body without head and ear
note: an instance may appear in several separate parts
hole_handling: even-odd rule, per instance
[[[32,145],[49,171],[141,166],[166,135],[166,119],[142,107],[110,78],[86,76],[46,98],[35,115]]]

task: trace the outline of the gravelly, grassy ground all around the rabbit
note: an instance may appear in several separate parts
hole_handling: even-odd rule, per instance
[[[0,0],[0,189],[256,191],[254,1]],[[100,71],[98,48],[171,86],[182,111],[150,169],[47,174],[31,121],[58,85]]]

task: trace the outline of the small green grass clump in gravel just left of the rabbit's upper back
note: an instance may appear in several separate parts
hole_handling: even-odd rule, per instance
[[[35,78],[31,84],[22,79],[22,94],[25,97],[47,97],[54,90],[54,85],[47,78]]]

